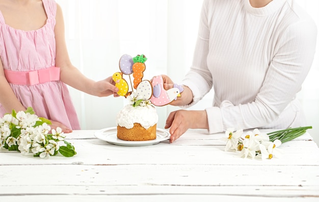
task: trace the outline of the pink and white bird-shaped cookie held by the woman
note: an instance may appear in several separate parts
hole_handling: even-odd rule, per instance
[[[179,88],[164,89],[164,82],[161,75],[156,76],[152,80],[153,94],[150,101],[155,106],[164,106],[171,103],[177,97],[180,97]]]

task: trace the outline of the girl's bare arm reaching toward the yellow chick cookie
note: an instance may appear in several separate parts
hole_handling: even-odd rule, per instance
[[[111,77],[95,82],[85,77],[70,61],[65,43],[64,19],[61,7],[57,4],[57,16],[55,27],[56,38],[56,66],[60,67],[60,80],[83,92],[96,96],[109,96],[115,94],[118,88],[114,86]]]

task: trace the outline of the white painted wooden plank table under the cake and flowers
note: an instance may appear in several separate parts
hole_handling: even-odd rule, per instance
[[[319,149],[308,133],[282,144],[281,159],[261,161],[224,152],[224,134],[201,130],[134,147],[94,132],[67,134],[71,158],[0,152],[0,201],[319,201]]]

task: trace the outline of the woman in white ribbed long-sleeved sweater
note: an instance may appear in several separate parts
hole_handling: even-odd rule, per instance
[[[204,0],[193,64],[182,96],[171,105],[195,105],[214,88],[212,107],[171,112],[173,142],[188,129],[305,126],[296,94],[311,67],[317,29],[294,0]],[[165,87],[173,82],[163,75]]]

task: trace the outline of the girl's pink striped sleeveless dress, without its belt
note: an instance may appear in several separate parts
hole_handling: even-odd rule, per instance
[[[46,24],[33,31],[16,30],[8,26],[0,11],[0,57],[5,70],[34,71],[55,66],[57,4],[43,0]],[[35,85],[9,83],[22,105],[32,107],[39,117],[59,121],[72,130],[79,130],[79,122],[67,86],[59,81]],[[6,113],[0,104],[0,116]]]

